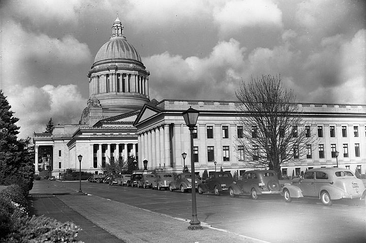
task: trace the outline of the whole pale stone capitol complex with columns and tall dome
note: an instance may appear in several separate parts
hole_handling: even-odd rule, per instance
[[[110,40],[87,74],[89,99],[79,124],[54,126],[52,134],[34,133],[36,173],[44,156],[56,178],[66,169],[79,169],[79,154],[81,170],[96,174],[109,160],[129,156],[136,157],[139,168],[147,160],[148,170],[181,172],[184,163],[190,169],[190,133],[181,114],[190,107],[200,112],[193,134],[196,172],[215,171],[214,162],[232,174],[251,169],[236,148],[242,131],[238,101],[150,100],[149,75],[117,16]],[[282,164],[283,174],[333,167],[337,160],[339,167],[366,173],[366,105],[294,105],[303,119],[311,120],[311,135],[317,139],[304,158]],[[52,146],[52,154],[40,155],[42,146]],[[182,153],[188,154],[186,161]]]

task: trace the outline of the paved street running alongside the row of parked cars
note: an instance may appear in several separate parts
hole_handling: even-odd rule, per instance
[[[50,181],[50,184],[58,183]],[[63,186],[78,190],[78,182]],[[187,220],[191,219],[191,193],[158,191],[82,182],[94,196]],[[230,198],[197,194],[198,219],[211,227],[268,242],[365,242],[365,201],[336,201],[323,206],[319,200],[286,203],[282,197]],[[136,219],[137,221],[139,219]]]

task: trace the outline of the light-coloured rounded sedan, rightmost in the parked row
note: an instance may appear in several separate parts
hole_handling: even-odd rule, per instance
[[[350,170],[317,168],[306,171],[303,178],[285,184],[282,193],[286,202],[291,202],[292,198],[313,197],[330,206],[332,200],[364,198],[366,191],[362,180]]]

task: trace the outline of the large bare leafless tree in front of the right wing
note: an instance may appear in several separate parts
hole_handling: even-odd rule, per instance
[[[283,87],[280,76],[241,80],[235,95],[242,127],[236,149],[248,167],[269,168],[280,176],[283,163],[300,162],[313,150],[311,124],[303,120],[293,90]]]

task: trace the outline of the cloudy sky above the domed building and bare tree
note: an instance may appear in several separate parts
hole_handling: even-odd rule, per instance
[[[1,1],[0,88],[20,136],[78,123],[86,74],[116,13],[150,71],[150,99],[235,100],[281,74],[299,102],[366,104],[363,1]]]

